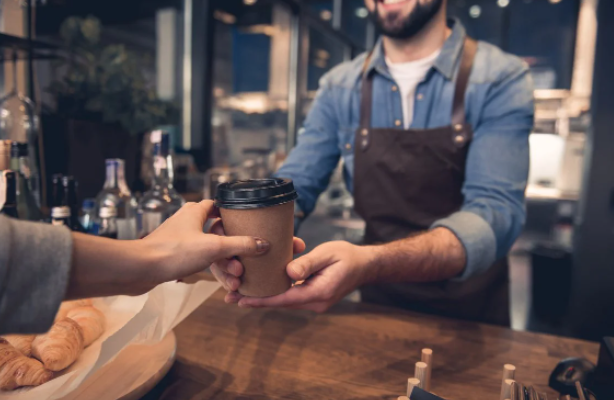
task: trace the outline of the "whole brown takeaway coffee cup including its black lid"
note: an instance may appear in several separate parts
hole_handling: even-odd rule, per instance
[[[252,236],[270,243],[265,254],[239,258],[245,269],[240,294],[275,296],[292,285],[286,266],[293,256],[297,197],[290,179],[237,180],[218,186],[215,204],[226,235]]]

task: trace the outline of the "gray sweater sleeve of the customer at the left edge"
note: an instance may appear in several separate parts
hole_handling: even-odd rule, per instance
[[[71,259],[67,228],[0,215],[0,334],[51,327],[66,293]]]

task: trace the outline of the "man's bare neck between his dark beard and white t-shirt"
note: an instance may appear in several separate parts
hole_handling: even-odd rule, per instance
[[[436,15],[420,32],[409,39],[383,37],[384,53],[393,63],[406,63],[428,57],[439,50],[452,31],[445,13]]]

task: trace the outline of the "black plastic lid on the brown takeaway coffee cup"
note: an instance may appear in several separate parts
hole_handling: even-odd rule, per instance
[[[217,187],[215,205],[246,210],[288,203],[298,198],[291,179],[250,179],[222,183]]]

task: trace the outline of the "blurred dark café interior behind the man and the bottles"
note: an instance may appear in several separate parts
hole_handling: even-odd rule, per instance
[[[31,144],[40,201],[55,174],[80,200],[125,160],[138,198],[148,132],[169,132],[175,189],[265,177],[293,148],[320,78],[371,49],[362,0],[2,0],[0,139]],[[449,0],[468,33],[522,57],[535,81],[528,220],[512,252],[513,328],[614,331],[614,10],[606,0]],[[333,176],[300,236],[358,242]],[[107,176],[107,178],[105,178]]]

